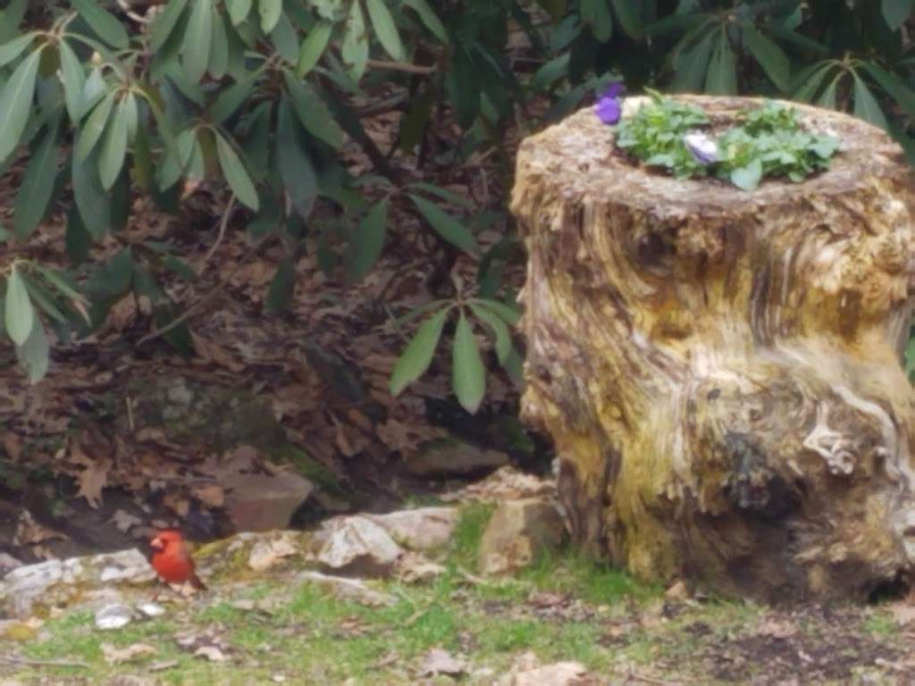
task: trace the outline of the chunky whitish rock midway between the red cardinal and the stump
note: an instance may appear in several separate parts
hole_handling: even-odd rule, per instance
[[[404,552],[387,531],[359,516],[328,520],[314,542],[318,563],[355,576],[387,576]]]

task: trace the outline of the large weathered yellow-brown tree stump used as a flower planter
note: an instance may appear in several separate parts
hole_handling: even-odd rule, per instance
[[[684,100],[713,129],[761,104]],[[877,128],[786,104],[841,152],[751,193],[630,161],[591,109],[523,142],[522,413],[554,438],[573,536],[613,563],[861,599],[915,560],[915,184]]]

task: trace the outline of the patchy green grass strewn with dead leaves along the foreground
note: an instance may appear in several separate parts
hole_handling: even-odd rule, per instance
[[[689,644],[671,640],[673,634],[667,630],[662,643],[636,629],[623,645],[606,644],[602,638],[614,613],[638,611],[656,602],[662,589],[640,584],[575,550],[544,554],[513,577],[480,582],[477,551],[492,510],[488,505],[463,510],[453,540],[441,552],[446,571],[431,583],[382,583],[380,590],[397,599],[393,606],[361,606],[337,600],[315,584],[291,587],[268,579],[237,588],[231,597],[219,597],[217,588],[217,597],[199,596],[194,601],[199,606],[170,607],[165,617],[116,632],[98,632],[91,613],[74,612],[49,621],[43,629],[47,638],[23,648],[33,659],[85,662],[92,666],[96,683],[142,671],[149,661],[171,659],[178,661],[175,667],[156,672],[164,683],[228,686],[270,682],[275,673],[294,682],[340,683],[352,678],[359,686],[411,683],[414,676],[408,669],[430,648],[465,653],[475,667],[497,672],[527,650],[544,660],[580,660],[595,670],[611,669],[620,657],[647,662],[659,654],[688,651]],[[592,611],[576,619],[538,616],[528,605],[534,592],[578,598]],[[232,605],[241,599],[270,600],[271,610]],[[713,607],[712,612],[723,610]],[[178,647],[176,634],[208,629],[231,646],[231,664],[210,663]],[[119,647],[143,642],[154,646],[157,654],[146,662],[108,665],[103,642]],[[378,667],[392,651],[396,659]],[[85,676],[85,670],[42,669],[46,675]],[[33,673],[25,669],[10,676]],[[479,683],[483,682],[488,683]]]

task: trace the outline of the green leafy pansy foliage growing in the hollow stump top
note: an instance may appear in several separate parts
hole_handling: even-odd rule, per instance
[[[801,182],[827,168],[839,148],[834,136],[805,131],[793,108],[766,102],[741,113],[740,124],[716,140],[707,138],[714,152],[704,154],[689,145],[689,135],[708,126],[705,113],[650,92],[651,102],[617,125],[616,145],[679,178],[714,174],[744,190],[757,188],[764,177]]]

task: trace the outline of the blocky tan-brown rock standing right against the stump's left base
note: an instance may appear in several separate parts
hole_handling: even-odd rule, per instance
[[[479,542],[479,569],[485,574],[511,572],[533,562],[538,552],[559,546],[565,524],[553,502],[524,498],[503,502]]]

